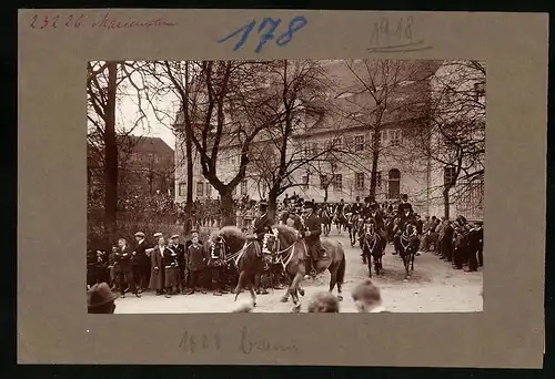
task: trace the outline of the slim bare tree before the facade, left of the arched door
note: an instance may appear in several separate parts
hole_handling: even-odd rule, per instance
[[[345,129],[364,132],[364,141],[346,134],[342,160],[347,166],[370,171],[370,195],[375,196],[380,161],[385,156],[402,158],[401,133],[407,123],[422,119],[430,99],[427,80],[435,65],[426,61],[355,60],[344,61],[343,66],[350,80],[342,76],[334,109]],[[398,135],[385,143],[384,133],[392,125],[400,126]]]

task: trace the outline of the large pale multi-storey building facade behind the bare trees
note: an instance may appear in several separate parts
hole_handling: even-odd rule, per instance
[[[407,194],[415,211],[420,214],[442,216],[444,214],[443,197],[437,196],[436,188],[442,187],[444,167],[426,157],[425,154],[418,154],[415,157],[414,154],[407,154],[407,152],[415,150],[414,131],[430,127],[430,117],[424,116],[426,112],[423,110],[433,102],[434,92],[441,90],[433,79],[436,72],[444,70],[443,63],[404,62],[405,66],[395,78],[395,93],[384,99],[389,101],[389,106],[393,111],[384,112],[379,120],[373,109],[380,99],[376,100],[364,91],[357,90],[356,81],[353,80],[352,69],[356,63],[354,61],[347,65],[344,61],[322,62],[326,78],[331,78],[336,88],[341,89],[326,95],[326,99],[333,102],[335,111],[326,111],[324,106],[321,112],[312,110],[301,112],[297,116],[296,123],[300,125],[300,132],[291,139],[289,157],[304,154],[310,164],[301,164],[292,172],[287,177],[292,186],[284,194],[299,194],[307,199],[329,203],[340,199],[354,202],[357,196],[361,199],[364,198],[370,194],[372,163],[376,158],[373,152],[376,150],[377,139],[380,153],[377,167],[374,171],[376,199],[396,201],[402,194]],[[410,73],[403,74],[403,72]],[[389,84],[384,81],[382,85]],[[341,112],[337,112],[337,109]],[[181,122],[179,115],[176,122]],[[272,161],[269,156],[273,152],[266,148],[269,141],[261,137],[253,145],[266,163]],[[180,203],[184,202],[186,196],[186,165],[183,146],[184,139],[178,135],[175,199]],[[325,150],[335,152],[333,158],[319,157],[319,154]],[[239,170],[239,151],[240,146],[230,145],[221,152],[218,171],[219,177],[224,182],[231,180]],[[300,158],[296,160],[301,162]],[[245,178],[235,188],[234,196],[236,198],[243,195],[249,195],[253,199],[268,198],[268,190],[269,184],[264,181],[263,170],[258,164],[251,164]],[[193,197],[201,201],[218,197],[218,192],[202,175],[198,156],[194,156],[193,163]],[[456,205],[452,206],[456,211]]]

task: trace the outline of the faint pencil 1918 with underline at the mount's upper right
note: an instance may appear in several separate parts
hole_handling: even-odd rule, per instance
[[[372,25],[369,52],[413,52],[430,50],[423,39],[415,38],[415,21],[412,16],[390,19],[383,17]]]

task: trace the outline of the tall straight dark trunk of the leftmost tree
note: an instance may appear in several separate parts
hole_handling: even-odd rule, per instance
[[[115,242],[115,223],[118,213],[118,144],[115,141],[115,86],[118,66],[108,62],[108,88],[104,131],[104,227],[109,243]]]

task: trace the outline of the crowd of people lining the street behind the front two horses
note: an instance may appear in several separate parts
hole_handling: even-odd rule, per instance
[[[216,219],[212,218],[215,216],[200,208],[196,212],[203,214],[204,223],[208,223],[201,225],[215,226]],[[420,238],[418,254],[433,252],[451,262],[453,267],[466,266],[468,272],[475,272],[483,265],[482,222],[472,223],[462,215],[454,221],[435,216],[422,218],[413,211],[406,195],[400,202],[382,204],[371,196],[364,198],[364,203],[357,197],[353,204],[346,204],[343,199],[336,204],[319,204],[296,194],[285,195],[278,204],[274,217],[270,216],[265,201],[256,203],[243,197],[238,204],[238,226],[246,235],[254,235],[261,247],[263,236],[272,233],[272,225],[284,224],[296,228],[309,247],[307,267],[314,267],[314,262],[322,259],[322,253],[325,256],[320,244],[322,224],[335,222],[341,231],[353,219],[372,221],[384,240],[394,246],[401,225],[412,224]],[[127,238],[119,238],[110,252],[88,252],[88,289],[107,283],[111,290],[117,290],[122,297],[127,293],[141,297],[145,290],[165,297],[206,294],[209,290],[221,296],[232,291],[236,285],[235,263],[213,256],[211,249],[204,246],[208,240],[201,240],[198,229],[192,229],[185,240],[180,235],[167,237],[162,233],[148,238],[142,232],[137,232],[133,239],[130,243]],[[396,253],[395,248],[392,254]],[[315,275],[313,269],[311,275]],[[278,289],[286,285],[283,269],[271,269],[258,277],[256,293],[268,294],[269,288]]]

